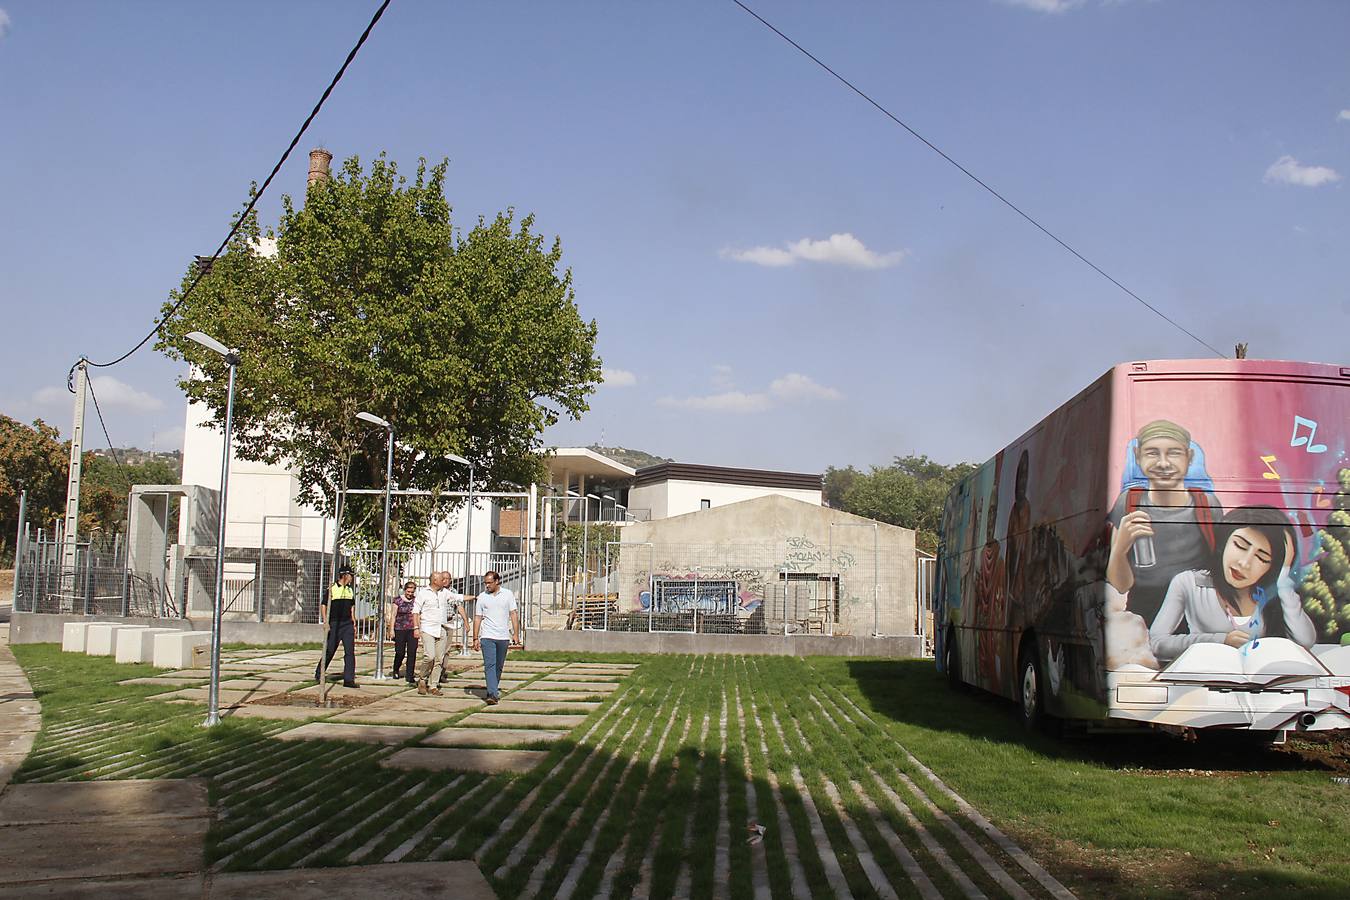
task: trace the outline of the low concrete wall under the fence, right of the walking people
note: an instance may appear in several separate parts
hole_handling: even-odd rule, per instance
[[[628,634],[526,629],[525,649],[572,653],[737,653],[745,656],[919,656],[917,637],[768,634]]]

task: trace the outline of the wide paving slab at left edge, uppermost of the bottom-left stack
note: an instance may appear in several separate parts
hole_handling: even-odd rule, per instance
[[[211,815],[205,779],[14,784],[0,796],[0,826],[105,819],[194,819]]]

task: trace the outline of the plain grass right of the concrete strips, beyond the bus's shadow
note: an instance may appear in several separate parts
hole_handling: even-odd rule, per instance
[[[927,789],[894,753],[903,745],[1083,896],[1350,893],[1332,824],[1350,814],[1350,791],[1324,768],[1207,741],[1029,737],[1006,703],[952,694],[930,664],[810,664],[890,738],[860,745],[873,765]],[[959,815],[941,792],[929,796]]]

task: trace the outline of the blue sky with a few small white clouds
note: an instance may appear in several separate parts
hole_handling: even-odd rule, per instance
[[[1219,351],[1350,362],[1350,4],[747,4]],[[148,332],[375,5],[0,0],[0,413],[69,433],[70,366]],[[551,444],[977,461],[1212,356],[730,0],[394,0],[263,223],[320,144],[560,236],[606,382]],[[97,370],[116,445],[181,445],[181,374]]]

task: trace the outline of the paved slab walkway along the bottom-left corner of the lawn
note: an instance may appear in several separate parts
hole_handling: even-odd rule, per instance
[[[0,622],[0,900],[495,897],[471,861],[207,872],[207,779],[11,785],[40,729],[42,706]]]

